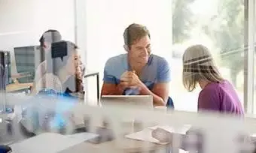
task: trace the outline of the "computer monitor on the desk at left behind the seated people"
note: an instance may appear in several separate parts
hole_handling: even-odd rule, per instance
[[[20,46],[14,48],[14,56],[18,74],[25,77],[18,78],[19,83],[32,83],[35,70],[41,63],[41,51],[38,46]]]

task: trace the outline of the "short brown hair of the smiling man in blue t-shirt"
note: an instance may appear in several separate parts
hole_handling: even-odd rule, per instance
[[[146,26],[133,23],[128,26],[123,32],[124,44],[130,47],[131,45],[136,43],[136,41],[147,35],[150,38],[150,33]]]

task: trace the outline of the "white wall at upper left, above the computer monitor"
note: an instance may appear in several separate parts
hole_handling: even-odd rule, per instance
[[[49,28],[75,41],[74,0],[0,0],[0,50],[11,51],[12,74],[14,47],[38,45]]]

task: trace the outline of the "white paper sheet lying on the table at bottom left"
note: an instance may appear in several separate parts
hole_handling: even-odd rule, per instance
[[[59,133],[41,133],[38,136],[25,139],[10,146],[14,153],[57,153],[84,142],[81,136],[79,136],[79,139],[74,137],[76,136],[64,136]]]

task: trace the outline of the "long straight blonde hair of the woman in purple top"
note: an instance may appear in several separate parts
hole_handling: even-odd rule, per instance
[[[194,45],[188,47],[183,55],[183,85],[188,92],[192,92],[200,80],[220,83],[224,79],[209,49],[203,45]]]

